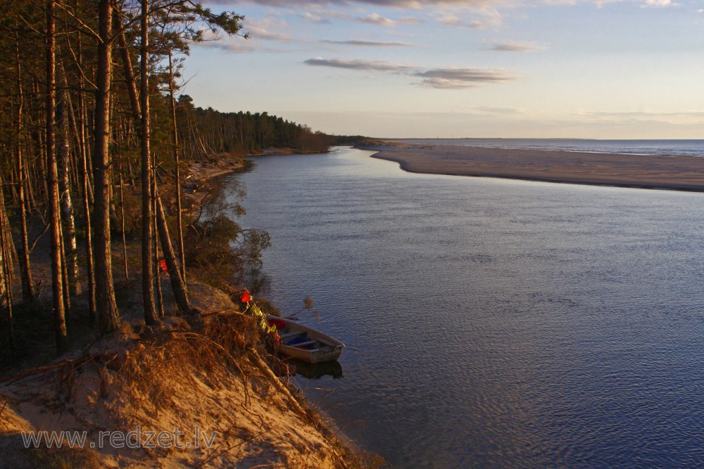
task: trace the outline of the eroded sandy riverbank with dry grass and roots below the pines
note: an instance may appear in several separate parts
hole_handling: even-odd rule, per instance
[[[218,185],[215,176],[244,168],[246,162],[234,159],[191,165],[186,180],[196,189],[189,197],[202,202]],[[44,248],[33,253],[33,266],[49,278]],[[113,251],[121,259],[121,246],[113,245]],[[132,251],[128,245],[128,257]],[[42,356],[47,358],[4,373],[4,463],[15,468],[372,466],[372,459],[367,464],[365,454],[340,442],[337,430],[289,386],[287,377],[272,371],[285,367],[264,352],[256,321],[240,314],[230,295],[198,281],[197,269],[189,269],[193,311],[182,316],[168,277],[162,276],[166,317],[146,327],[141,277],[135,269],[129,279],[121,278],[119,264],[114,266],[120,330],[95,338],[85,317],[86,297],[80,295],[67,314],[71,351],[49,359],[56,354],[51,328],[46,328]],[[50,294],[43,292],[44,304],[51,304]],[[16,312],[23,331],[31,327],[27,321],[51,323],[49,309]],[[160,434],[161,441],[146,441]],[[44,442],[27,447],[27,435]],[[63,438],[61,448],[46,441],[51,435]],[[76,435],[84,442],[69,444]]]

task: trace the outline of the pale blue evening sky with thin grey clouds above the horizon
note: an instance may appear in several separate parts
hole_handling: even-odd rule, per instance
[[[202,1],[202,0],[201,0]],[[206,0],[203,108],[387,138],[704,138],[704,0]]]

